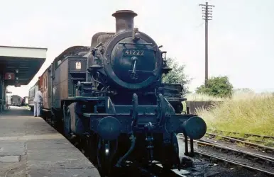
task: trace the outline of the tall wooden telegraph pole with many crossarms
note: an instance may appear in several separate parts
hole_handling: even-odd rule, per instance
[[[204,78],[204,86],[207,86],[207,80],[209,79],[209,61],[208,61],[208,21],[212,20],[212,5],[209,5],[208,2],[206,4],[199,4],[202,6],[202,19],[205,21],[204,30],[205,30],[205,78]]]

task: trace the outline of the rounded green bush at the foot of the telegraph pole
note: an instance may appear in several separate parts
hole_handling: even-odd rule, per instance
[[[229,82],[227,76],[212,77],[207,81],[207,86],[199,86],[196,89],[197,93],[204,93],[209,96],[217,97],[231,97],[233,93],[233,86]]]

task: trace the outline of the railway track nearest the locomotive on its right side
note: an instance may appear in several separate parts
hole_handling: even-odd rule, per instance
[[[180,137],[180,139],[185,139],[184,137]],[[190,140],[190,139],[188,139]],[[239,149],[234,149],[230,147],[224,147],[217,143],[212,143],[204,139],[194,140],[199,146],[202,147],[211,147],[213,151],[206,152],[195,149],[194,154],[199,156],[206,156],[209,159],[217,159],[218,161],[223,161],[225,163],[229,163],[236,166],[241,166],[243,168],[257,171],[260,173],[265,173],[267,176],[274,176],[274,158],[271,156],[263,156],[261,154],[254,154],[251,152],[242,151]],[[218,151],[216,151],[218,149]],[[217,153],[209,153],[209,152],[217,152]],[[237,159],[221,156],[220,154],[228,154],[231,153],[237,156]],[[243,159],[239,159],[241,156]],[[269,168],[268,168],[269,167]]]

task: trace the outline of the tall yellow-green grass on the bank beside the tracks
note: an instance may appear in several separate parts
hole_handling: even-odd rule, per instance
[[[208,129],[274,136],[273,93],[234,93],[229,98],[199,95],[192,101],[224,101],[209,110],[197,109]]]

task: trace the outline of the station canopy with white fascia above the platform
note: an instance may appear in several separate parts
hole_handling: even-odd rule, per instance
[[[28,85],[46,59],[47,48],[0,46],[0,74],[7,85]]]

